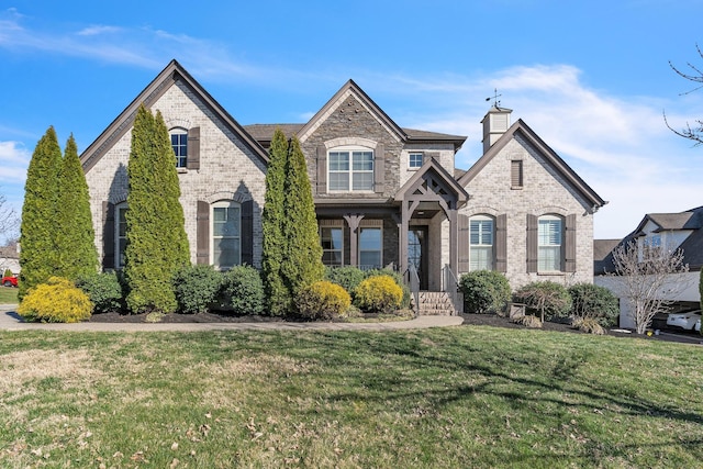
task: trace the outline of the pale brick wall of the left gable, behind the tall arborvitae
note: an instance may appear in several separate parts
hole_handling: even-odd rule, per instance
[[[161,111],[166,125],[200,127],[200,169],[180,169],[180,202],[186,217],[186,233],[191,261],[196,263],[196,213],[198,200],[215,202],[222,198],[244,201],[253,199],[254,263],[261,258],[261,209],[264,206],[266,167],[258,156],[237,139],[215,114],[187,87],[176,82],[152,107]],[[118,203],[126,199],[126,165],[132,133],[126,132],[86,174],[91,200],[96,244],[102,258],[102,202]],[[158,194],[155,194],[158,197]]]

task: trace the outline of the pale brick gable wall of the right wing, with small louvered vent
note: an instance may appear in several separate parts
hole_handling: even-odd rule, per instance
[[[523,189],[511,189],[511,160],[523,160]],[[537,280],[563,284],[593,281],[593,215],[587,200],[563,181],[523,138],[511,141],[466,187],[470,200],[461,213],[507,214],[507,272],[516,289]],[[526,272],[527,214],[577,215],[577,272]]]

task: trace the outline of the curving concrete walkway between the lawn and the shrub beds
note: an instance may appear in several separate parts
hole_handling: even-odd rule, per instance
[[[199,332],[199,331],[395,331],[457,326],[461,316],[420,316],[412,321],[392,323],[25,323],[14,304],[0,304],[0,331],[94,331],[94,332]]]

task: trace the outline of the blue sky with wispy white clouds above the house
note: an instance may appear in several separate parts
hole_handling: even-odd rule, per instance
[[[399,125],[467,135],[498,89],[610,203],[595,237],[703,205],[703,0],[1,1],[0,193],[49,125],[82,152],[171,58],[241,123],[305,122],[353,78]]]

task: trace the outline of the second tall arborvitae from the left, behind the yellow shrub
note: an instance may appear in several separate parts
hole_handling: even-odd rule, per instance
[[[94,239],[88,183],[71,135],[64,149],[58,178],[57,273],[72,281],[80,276],[94,273],[98,269]]]

